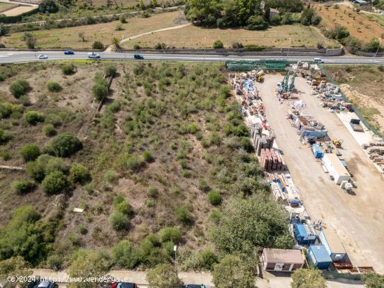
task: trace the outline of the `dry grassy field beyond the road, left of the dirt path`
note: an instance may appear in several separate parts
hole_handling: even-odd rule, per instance
[[[111,45],[114,37],[127,38],[136,34],[176,26],[184,19],[182,11],[155,14],[149,18],[133,17],[128,23],[121,24],[119,21],[94,24],[87,26],[68,27],[63,29],[51,29],[34,31],[37,38],[36,46],[40,48],[64,48],[89,49],[94,41],[101,41],[104,45]],[[121,25],[121,31],[116,31],[117,25]],[[84,32],[85,42],[79,37]],[[26,47],[22,40],[24,33],[12,33],[0,38],[0,43],[6,47]]]

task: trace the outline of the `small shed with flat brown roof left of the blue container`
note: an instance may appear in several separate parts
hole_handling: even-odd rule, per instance
[[[302,252],[295,249],[264,248],[261,255],[263,267],[267,271],[294,271],[302,268]]]

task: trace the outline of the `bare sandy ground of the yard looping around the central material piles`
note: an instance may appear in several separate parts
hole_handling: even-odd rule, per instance
[[[355,266],[373,266],[378,273],[384,273],[383,177],[337,115],[321,107],[320,100],[311,95],[311,86],[297,77],[295,86],[300,99],[307,104],[307,112],[325,125],[331,139],[344,140],[340,151],[357,188],[347,193],[331,181],[286,119],[291,101],[280,104],[274,96],[276,84],[282,79],[279,74],[265,75],[264,83],[257,87],[266,119],[311,219],[321,219],[327,227],[337,229]]]

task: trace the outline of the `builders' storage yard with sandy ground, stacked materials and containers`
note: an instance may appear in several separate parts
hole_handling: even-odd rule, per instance
[[[227,68],[295,249],[330,273],[383,273],[384,141],[316,63],[286,64]]]

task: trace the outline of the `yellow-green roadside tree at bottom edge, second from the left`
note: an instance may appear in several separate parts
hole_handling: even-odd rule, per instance
[[[74,278],[100,278],[108,271],[109,263],[105,255],[91,250],[78,250],[75,259],[68,268],[68,275]],[[96,288],[99,282],[74,282],[73,288]]]

